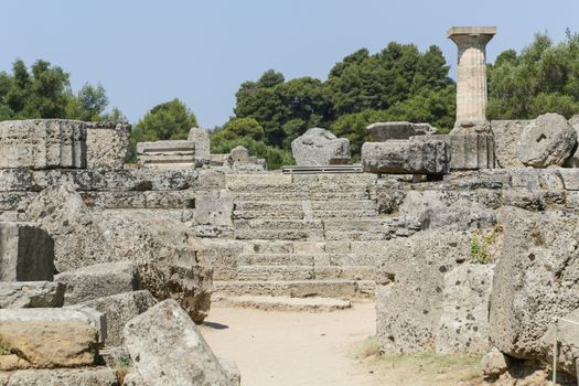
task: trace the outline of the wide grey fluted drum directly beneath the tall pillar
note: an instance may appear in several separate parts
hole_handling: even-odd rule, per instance
[[[457,133],[437,136],[436,138],[449,142],[451,170],[494,169],[493,136],[484,133]]]

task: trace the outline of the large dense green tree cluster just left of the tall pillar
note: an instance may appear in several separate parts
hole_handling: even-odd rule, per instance
[[[347,55],[328,79],[286,81],[267,71],[242,84],[235,117],[253,118],[264,128],[267,146],[285,150],[312,127],[346,137],[354,152],[366,140],[365,127],[376,120],[428,121],[450,128],[454,121],[454,84],[439,47],[421,53],[414,44],[390,43],[371,55],[366,49]],[[218,131],[214,138],[221,140]],[[230,138],[232,139],[232,138]],[[229,139],[229,140],[230,140]]]

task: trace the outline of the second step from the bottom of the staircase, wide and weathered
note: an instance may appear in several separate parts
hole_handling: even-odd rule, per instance
[[[292,281],[214,281],[215,292],[225,294],[328,297],[337,299],[374,298],[374,280],[292,280]]]

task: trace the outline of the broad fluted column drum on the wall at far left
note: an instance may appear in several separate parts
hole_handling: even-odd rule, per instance
[[[78,120],[0,122],[0,169],[86,168],[86,125]]]

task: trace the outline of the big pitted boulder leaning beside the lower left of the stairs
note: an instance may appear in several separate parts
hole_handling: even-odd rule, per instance
[[[150,213],[104,213],[98,225],[118,255],[137,266],[141,289],[157,299],[175,299],[195,322],[203,321],[211,304],[213,271],[197,254],[193,229]]]

